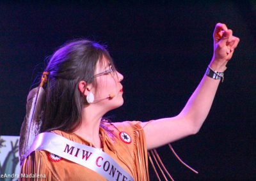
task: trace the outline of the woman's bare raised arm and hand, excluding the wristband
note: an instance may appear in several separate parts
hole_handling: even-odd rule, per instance
[[[239,38],[232,36],[232,31],[225,24],[216,24],[213,33],[214,55],[209,66],[214,71],[223,72],[231,59]],[[182,112],[175,117],[143,122],[147,148],[156,148],[185,136],[195,134],[204,123],[220,80],[204,75],[195,92],[189,98]]]

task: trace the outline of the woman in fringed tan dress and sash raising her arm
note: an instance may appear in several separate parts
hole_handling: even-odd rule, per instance
[[[226,64],[239,42],[220,23],[213,38],[212,61],[182,112],[150,122],[110,123],[102,119],[124,103],[124,76],[98,43],[81,40],[61,47],[52,55],[42,78],[45,100],[40,98],[41,89],[36,96],[35,91],[28,96],[28,101],[33,97],[43,100],[44,108],[36,119],[41,120],[42,115],[42,126],[36,123],[42,136],[36,137],[32,146],[21,138],[23,176],[32,173],[36,179],[47,180],[149,180],[147,150],[197,133],[209,113]],[[28,134],[26,122],[21,137]]]

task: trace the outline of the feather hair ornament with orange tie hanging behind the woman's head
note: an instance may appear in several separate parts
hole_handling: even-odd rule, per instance
[[[42,114],[45,101],[44,83],[47,82],[49,72],[44,71],[41,83],[32,89],[27,98],[26,116],[20,129],[19,159],[20,165],[28,154],[35,137],[40,133],[42,126]]]

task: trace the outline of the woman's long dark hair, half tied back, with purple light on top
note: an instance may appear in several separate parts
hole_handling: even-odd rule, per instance
[[[95,85],[92,76],[103,57],[115,68],[106,47],[93,41],[71,41],[54,52],[45,69],[49,77],[41,131],[59,129],[70,133],[81,124],[85,101],[78,83],[84,80]]]

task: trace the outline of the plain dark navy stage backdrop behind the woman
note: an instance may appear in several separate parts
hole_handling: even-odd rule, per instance
[[[124,106],[108,113],[114,122],[177,115],[211,61],[212,31],[223,22],[241,38],[225,81],[200,132],[173,143],[199,174],[167,147],[158,150],[176,180],[255,178],[255,1],[25,2],[0,4],[0,135],[19,135],[44,59],[74,38],[108,45],[124,75]],[[152,168],[150,178],[157,179]]]

